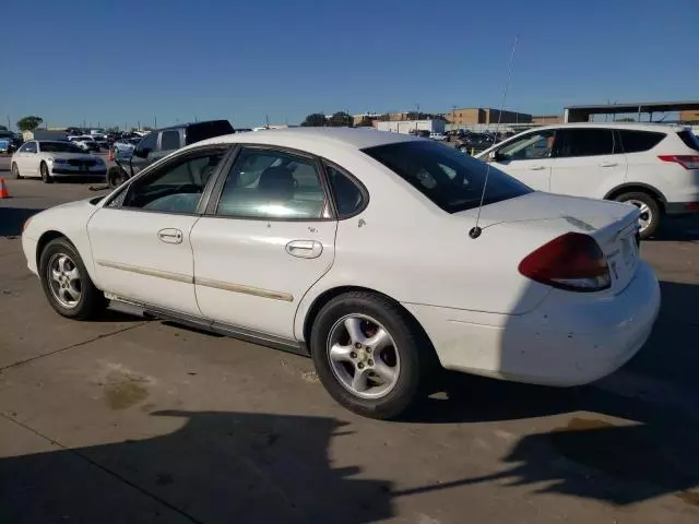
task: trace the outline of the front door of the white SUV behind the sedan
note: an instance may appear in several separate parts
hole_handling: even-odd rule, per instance
[[[550,154],[556,132],[533,131],[502,144],[489,162],[537,191],[550,189]]]

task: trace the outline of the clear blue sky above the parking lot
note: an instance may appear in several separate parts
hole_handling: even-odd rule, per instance
[[[0,123],[699,98],[698,0],[12,0]]]

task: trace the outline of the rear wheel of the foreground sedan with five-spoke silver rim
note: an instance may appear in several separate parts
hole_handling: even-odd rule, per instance
[[[379,344],[378,330],[388,335],[379,354],[370,347]],[[337,352],[332,350],[335,346]],[[351,412],[377,419],[403,414],[417,400],[436,362],[431,344],[414,319],[387,297],[365,291],[340,295],[321,308],[311,327],[310,349],[330,395]],[[356,373],[364,379],[355,389]]]

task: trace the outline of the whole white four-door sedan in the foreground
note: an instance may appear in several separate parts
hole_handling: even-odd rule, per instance
[[[179,150],[22,245],[64,317],[112,301],[310,354],[337,402],[390,418],[436,366],[567,386],[624,365],[660,307],[638,216],[429,140],[301,128]]]

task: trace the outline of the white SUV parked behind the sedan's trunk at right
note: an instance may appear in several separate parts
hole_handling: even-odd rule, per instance
[[[541,191],[633,204],[642,238],[664,216],[699,212],[699,141],[679,126],[549,126],[477,156]]]

